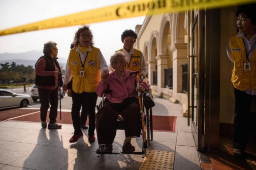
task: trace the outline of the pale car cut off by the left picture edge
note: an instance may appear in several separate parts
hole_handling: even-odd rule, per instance
[[[32,98],[29,95],[16,94],[6,89],[0,89],[0,110],[27,107],[32,103]]]

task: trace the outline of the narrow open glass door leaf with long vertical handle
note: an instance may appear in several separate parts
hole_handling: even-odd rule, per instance
[[[204,149],[204,20],[202,11],[193,12],[190,51],[191,128],[198,150]]]

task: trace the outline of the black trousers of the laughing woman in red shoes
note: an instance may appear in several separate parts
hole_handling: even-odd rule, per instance
[[[89,129],[88,135],[94,135],[95,131],[95,107],[97,103],[97,93],[83,92],[81,94],[72,91],[72,121],[75,134],[81,133],[80,126],[80,109],[82,108],[88,113],[89,116]]]

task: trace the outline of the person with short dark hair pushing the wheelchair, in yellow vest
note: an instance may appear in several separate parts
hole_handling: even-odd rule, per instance
[[[147,74],[146,62],[143,53],[140,50],[134,48],[134,44],[137,39],[137,34],[131,30],[126,29],[121,35],[123,48],[117,51],[121,51],[125,54],[127,61],[126,70],[137,71],[140,70],[140,75],[145,78]],[[116,51],[116,52],[117,52]]]

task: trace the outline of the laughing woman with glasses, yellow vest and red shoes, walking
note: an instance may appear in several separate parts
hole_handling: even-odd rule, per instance
[[[92,33],[89,26],[80,27],[75,33],[76,48],[70,50],[63,82],[63,90],[67,91],[67,84],[72,80],[72,121],[74,135],[70,143],[77,142],[83,137],[80,126],[79,112],[81,106],[89,116],[88,141],[94,142],[95,136],[95,106],[98,95],[95,93],[102,76],[108,75],[107,63],[100,49],[93,47]],[[72,94],[70,94],[72,93]]]

